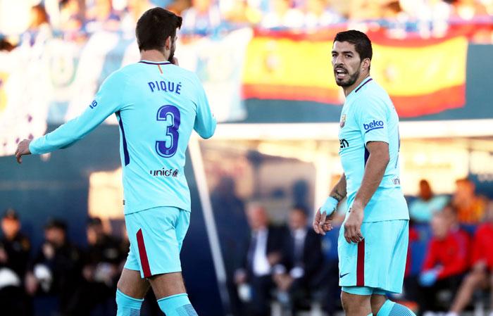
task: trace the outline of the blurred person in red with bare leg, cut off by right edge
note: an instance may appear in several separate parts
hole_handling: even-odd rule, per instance
[[[473,239],[473,267],[464,278],[447,316],[460,315],[477,289],[490,289],[493,302],[493,202],[488,204],[485,222],[478,227]],[[491,308],[491,307],[490,307]],[[491,308],[493,310],[493,308]],[[492,315],[491,312],[489,315]]]

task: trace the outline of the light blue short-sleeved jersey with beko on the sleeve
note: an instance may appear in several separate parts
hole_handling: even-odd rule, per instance
[[[346,175],[349,208],[363,180],[368,141],[389,144],[390,160],[382,182],[365,208],[363,222],[408,220],[399,178],[399,117],[387,92],[371,77],[351,91],[341,113],[339,156]]]

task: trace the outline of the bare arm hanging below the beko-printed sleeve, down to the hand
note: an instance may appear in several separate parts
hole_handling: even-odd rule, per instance
[[[344,224],[344,238],[348,243],[358,243],[363,239],[361,223],[363,222],[365,207],[373,194],[375,194],[375,191],[377,191],[380,182],[382,182],[385,169],[390,160],[389,144],[384,141],[368,141],[366,148],[370,156],[366,162],[363,181]]]

